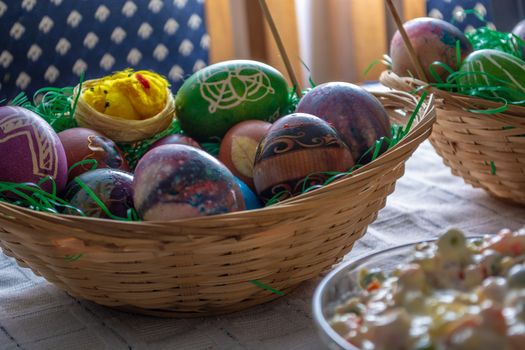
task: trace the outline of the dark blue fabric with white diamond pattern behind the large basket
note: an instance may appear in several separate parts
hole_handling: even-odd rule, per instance
[[[175,92],[208,63],[204,0],[0,0],[0,99],[132,67]]]

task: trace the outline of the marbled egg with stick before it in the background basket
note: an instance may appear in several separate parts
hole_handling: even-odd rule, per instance
[[[472,52],[472,46],[465,34],[454,25],[436,18],[416,18],[406,22],[405,28],[410,42],[416,51],[416,55],[427,78],[435,82],[437,79],[431,73],[430,67],[433,66],[435,73],[445,79],[448,76],[447,70],[433,62],[439,61],[446,64],[456,71],[457,65],[456,42],[459,42],[461,58],[465,58]],[[403,42],[403,38],[397,31],[390,44],[390,57],[392,58],[392,70],[400,76],[417,77],[416,69],[412,64],[408,50]]]

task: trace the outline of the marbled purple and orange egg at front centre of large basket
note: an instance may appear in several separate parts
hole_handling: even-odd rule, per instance
[[[208,153],[186,145],[155,147],[141,158],[133,181],[144,220],[176,220],[244,210],[233,174]]]

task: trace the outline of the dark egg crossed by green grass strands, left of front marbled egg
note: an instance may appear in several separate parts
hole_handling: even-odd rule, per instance
[[[133,175],[109,168],[88,171],[68,184],[64,198],[86,216],[111,217],[100,201],[113,216],[127,218],[133,208]],[[81,215],[72,208],[66,208],[64,213]]]

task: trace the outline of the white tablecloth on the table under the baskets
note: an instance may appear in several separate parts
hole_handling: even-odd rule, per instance
[[[450,174],[428,142],[408,161],[387,206],[345,259],[435,237],[525,225],[525,208]],[[310,304],[319,280],[280,300],[199,319],[131,315],[70,297],[0,253],[0,349],[322,349]]]

